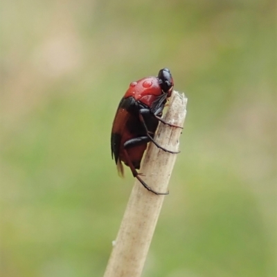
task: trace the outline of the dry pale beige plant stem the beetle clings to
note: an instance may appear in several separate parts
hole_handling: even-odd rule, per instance
[[[174,91],[166,113],[166,122],[183,126],[186,102],[184,94],[179,95]],[[181,131],[181,128],[160,123],[154,140],[168,150],[178,151]],[[168,191],[177,155],[162,151],[150,142],[141,166],[141,178],[154,191]],[[141,276],[164,197],[165,195],[155,195],[146,190],[136,180],[104,277]]]

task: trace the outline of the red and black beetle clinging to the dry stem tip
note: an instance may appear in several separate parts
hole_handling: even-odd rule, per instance
[[[148,184],[143,182],[136,169],[141,166],[148,142],[153,142],[163,151],[179,153],[164,149],[153,139],[159,121],[179,127],[161,118],[173,86],[173,79],[168,68],[161,69],[158,77],[146,77],[132,82],[119,103],[111,130],[111,157],[116,161],[118,173],[123,175],[121,162],[124,162],[145,189],[155,194],[168,193],[152,190]]]

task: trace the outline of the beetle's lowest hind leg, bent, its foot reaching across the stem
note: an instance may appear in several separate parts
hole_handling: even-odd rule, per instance
[[[128,151],[127,151],[128,148],[130,148],[132,146],[138,146],[139,144],[144,144],[144,143],[147,143],[149,141],[150,141],[149,137],[136,137],[134,139],[127,140],[127,142],[125,142],[124,148],[123,148],[125,159],[126,159],[126,162],[127,162],[128,166],[129,166],[129,168],[132,171],[132,174],[133,174],[134,178],[138,179],[139,182],[141,182],[141,184],[143,185],[143,187],[145,187],[145,189],[147,189],[148,191],[151,191],[152,193],[157,194],[157,195],[167,195],[168,192],[166,192],[166,193],[160,193],[160,192],[157,192],[157,191],[154,191],[153,189],[151,189],[148,186],[148,184],[146,184],[141,179],[141,177],[139,177],[139,175],[141,175],[141,174],[138,173],[138,171],[136,171],[136,169],[134,168],[134,164],[132,163],[131,159],[129,158],[129,154],[128,154]]]

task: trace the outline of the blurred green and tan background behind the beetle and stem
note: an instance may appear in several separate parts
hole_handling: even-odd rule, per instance
[[[134,183],[111,124],[163,67],[188,113],[143,276],[276,276],[275,1],[1,6],[1,276],[102,276]]]

